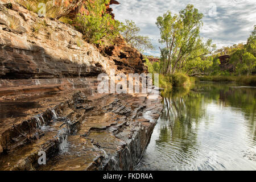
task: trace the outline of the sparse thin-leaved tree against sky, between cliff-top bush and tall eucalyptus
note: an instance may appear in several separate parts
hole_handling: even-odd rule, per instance
[[[121,34],[128,44],[139,49],[139,51],[154,49],[154,46],[150,42],[150,38],[148,38],[148,36],[138,35],[139,31],[141,31],[141,28],[137,27],[133,21],[125,20]]]

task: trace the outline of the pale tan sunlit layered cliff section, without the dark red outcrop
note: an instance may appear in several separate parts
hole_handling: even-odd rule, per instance
[[[3,9],[3,7],[2,7]],[[20,16],[20,13],[26,20]],[[25,14],[26,13],[26,14]],[[109,72],[113,61],[72,27],[20,7],[0,11],[1,78],[64,78]],[[9,28],[15,21],[15,28]]]

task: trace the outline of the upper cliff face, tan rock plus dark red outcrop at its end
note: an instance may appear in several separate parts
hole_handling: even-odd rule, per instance
[[[64,88],[70,79],[109,74],[111,68],[125,73],[143,71],[141,53],[123,39],[118,38],[115,46],[101,49],[100,53],[97,47],[84,42],[73,27],[39,18],[15,4],[12,9],[0,6],[0,30],[0,96],[1,89],[4,94],[7,92],[3,81],[7,79],[12,87],[42,87],[45,81],[40,79],[47,78],[47,85]],[[16,79],[20,80],[18,85],[11,81]],[[32,79],[29,85],[26,79]]]

